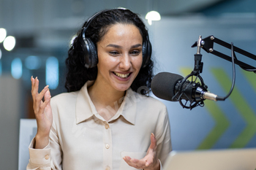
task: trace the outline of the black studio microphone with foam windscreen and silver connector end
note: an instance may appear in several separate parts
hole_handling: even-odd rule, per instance
[[[151,89],[155,96],[167,101],[186,101],[196,102],[198,104],[205,99],[217,101],[222,100],[214,93],[200,85],[199,82],[190,82],[184,80],[184,77],[178,74],[160,72],[153,77]]]

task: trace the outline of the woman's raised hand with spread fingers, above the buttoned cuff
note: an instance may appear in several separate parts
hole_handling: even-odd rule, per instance
[[[50,90],[49,86],[45,86],[38,93],[39,80],[37,77],[31,77],[31,95],[33,98],[34,115],[37,119],[37,134],[35,136],[35,149],[43,149],[49,143],[50,128],[53,124],[53,114],[50,107]],[[44,101],[42,101],[44,98]]]

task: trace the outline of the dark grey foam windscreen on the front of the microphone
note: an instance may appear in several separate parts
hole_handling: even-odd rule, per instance
[[[173,101],[172,98],[175,95],[175,86],[178,80],[182,80],[183,78],[184,77],[178,74],[160,72],[153,77],[151,82],[151,90],[158,98]]]

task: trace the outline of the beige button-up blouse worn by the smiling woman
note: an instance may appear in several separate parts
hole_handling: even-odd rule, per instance
[[[29,146],[27,169],[132,170],[124,156],[143,158],[154,133],[157,155],[165,163],[171,151],[167,109],[155,98],[127,90],[121,107],[108,122],[94,107],[86,83],[81,90],[51,99],[50,142],[42,150]],[[111,114],[111,107],[105,109]],[[162,169],[162,168],[161,168]]]

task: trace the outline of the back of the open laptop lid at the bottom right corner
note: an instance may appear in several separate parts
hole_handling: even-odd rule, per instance
[[[256,148],[172,151],[163,170],[256,170]]]

